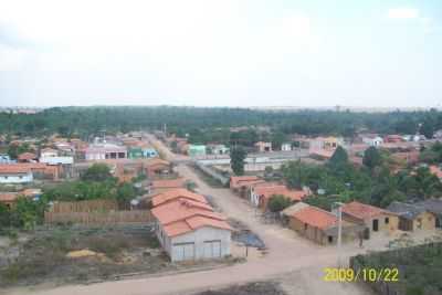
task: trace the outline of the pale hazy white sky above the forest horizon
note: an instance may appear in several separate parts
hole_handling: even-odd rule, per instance
[[[442,1],[0,0],[0,106],[442,106]]]

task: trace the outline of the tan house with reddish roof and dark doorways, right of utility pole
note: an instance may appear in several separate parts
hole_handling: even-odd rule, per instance
[[[399,226],[399,218],[396,213],[352,201],[341,207],[343,219],[364,224],[370,232],[396,231]]]

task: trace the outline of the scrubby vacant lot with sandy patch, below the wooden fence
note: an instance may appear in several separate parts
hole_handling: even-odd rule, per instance
[[[0,252],[0,286],[90,282],[178,267],[168,262],[150,228],[56,228]]]

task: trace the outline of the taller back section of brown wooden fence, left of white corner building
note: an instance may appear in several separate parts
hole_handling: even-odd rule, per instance
[[[118,210],[118,203],[115,200],[86,200],[76,202],[56,202],[50,211],[53,213],[72,212],[107,212]]]

